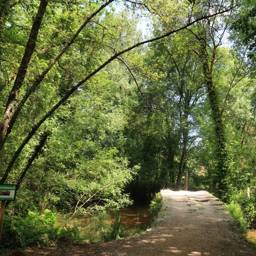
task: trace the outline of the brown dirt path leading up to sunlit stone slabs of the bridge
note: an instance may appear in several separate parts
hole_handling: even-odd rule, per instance
[[[28,249],[28,256],[256,256],[232,231],[232,217],[206,191],[162,190],[164,218],[156,227],[110,243]]]

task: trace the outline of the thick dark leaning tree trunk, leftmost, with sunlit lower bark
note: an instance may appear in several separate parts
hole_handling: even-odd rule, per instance
[[[5,133],[6,130],[9,126],[9,121],[12,117],[13,111],[17,105],[17,100],[18,100],[18,96],[19,96],[19,91],[20,88],[22,86],[22,83],[24,81],[25,75],[27,73],[27,67],[29,64],[29,61],[31,59],[31,56],[34,52],[34,49],[36,47],[36,40],[37,40],[37,36],[38,36],[38,32],[39,29],[41,27],[41,23],[44,17],[44,13],[46,10],[46,7],[48,5],[48,1],[47,0],[41,0],[40,1],[40,5],[38,7],[38,11],[37,11],[37,15],[34,19],[32,28],[31,28],[31,32],[28,38],[28,42],[25,48],[25,52],[21,61],[21,65],[18,69],[13,87],[11,89],[11,92],[9,94],[9,98],[7,100],[7,104],[6,104],[6,108],[5,108],[5,113],[4,113],[4,117],[0,123],[0,148],[1,145],[4,142],[4,138],[5,138]]]

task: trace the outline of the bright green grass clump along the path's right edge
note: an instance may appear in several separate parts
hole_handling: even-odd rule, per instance
[[[244,218],[241,206],[238,203],[232,201],[229,203],[227,208],[230,214],[234,217],[236,226],[241,230],[243,234],[246,234],[248,232],[247,221]]]

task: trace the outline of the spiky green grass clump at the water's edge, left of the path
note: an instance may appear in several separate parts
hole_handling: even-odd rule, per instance
[[[121,226],[121,213],[118,214],[118,212],[115,213],[113,227],[109,226],[107,229],[102,227],[98,233],[100,242],[119,240],[130,235],[131,232],[129,230],[125,230],[124,227]]]

